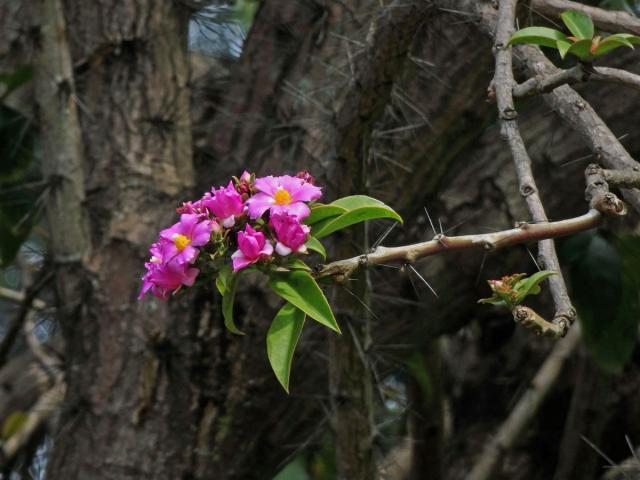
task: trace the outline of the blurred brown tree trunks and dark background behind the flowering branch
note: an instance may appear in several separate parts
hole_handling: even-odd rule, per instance
[[[486,99],[491,39],[418,3],[0,0],[0,478],[329,480],[360,461],[336,438],[360,435],[349,454],[375,476],[463,479],[532,387],[486,478],[640,478],[638,212],[557,244],[581,338],[477,304],[486,280],[537,271],[535,244],[381,266],[327,289],[348,328],[308,322],[289,395],[260,278],[238,294],[243,337],[212,286],[136,300],[175,208],[245,169],[308,170],[325,198],[368,194],[405,219],[336,236],[330,260],[529,218]],[[555,22],[527,4],[520,18]],[[635,51],[605,58],[640,73]],[[578,91],[638,158],[640,93]],[[548,216],[585,213],[592,152],[540,98],[516,107]],[[72,177],[82,192],[58,194]],[[65,237],[78,257],[60,268]],[[553,313],[544,288],[532,306]]]

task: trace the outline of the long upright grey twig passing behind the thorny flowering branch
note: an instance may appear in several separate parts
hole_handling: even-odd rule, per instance
[[[493,77],[493,85],[500,118],[500,132],[506,138],[511,149],[511,156],[513,157],[520,186],[520,194],[525,197],[533,220],[535,222],[546,222],[547,214],[544,211],[538,187],[533,177],[531,158],[529,158],[520,135],[517,123],[518,114],[513,104],[512,90],[515,80],[511,65],[511,48],[507,44],[514,31],[516,4],[517,0],[502,0],[500,2],[495,35],[496,70]],[[538,257],[539,263],[543,265],[543,268],[558,272],[558,275],[549,279],[551,295],[556,309],[553,323],[559,325],[566,332],[575,320],[576,310],[571,305],[552,240],[543,240],[538,244]]]

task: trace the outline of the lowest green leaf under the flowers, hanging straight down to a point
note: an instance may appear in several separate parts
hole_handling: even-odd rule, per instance
[[[304,319],[304,312],[287,302],[276,314],[267,332],[269,363],[287,393],[293,352],[300,339]]]

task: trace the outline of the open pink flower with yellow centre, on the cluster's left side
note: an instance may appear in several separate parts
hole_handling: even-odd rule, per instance
[[[160,238],[168,240],[164,263],[192,263],[198,256],[198,249],[209,242],[211,231],[216,226],[212,220],[203,220],[196,213],[185,213],[171,228],[160,232]]]

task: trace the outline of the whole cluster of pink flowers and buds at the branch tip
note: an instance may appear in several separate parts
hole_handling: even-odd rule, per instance
[[[226,187],[212,188],[196,201],[177,209],[180,220],[162,230],[151,245],[140,298],[151,292],[167,299],[183,285],[191,286],[216,260],[231,257],[237,272],[259,262],[292,253],[305,253],[309,202],[322,191],[311,175],[255,178],[244,172]]]

